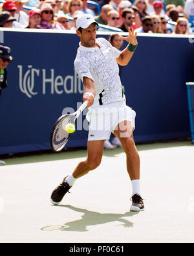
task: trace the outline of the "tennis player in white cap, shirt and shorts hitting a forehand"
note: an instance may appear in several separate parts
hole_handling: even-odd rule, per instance
[[[140,157],[133,139],[136,113],[125,104],[118,75],[118,64],[127,65],[136,49],[136,33],[129,29],[126,38],[120,37],[129,42],[120,52],[104,38],[96,38],[96,25],[98,23],[89,14],[81,14],[76,21],[80,47],[74,67],[83,81],[83,101],[88,101],[89,108],[87,159],[81,161],[72,174],[54,189],[51,202],[59,204],[78,178],[100,165],[103,143],[113,132],[122,143],[127,157],[127,172],[133,189],[130,211],[144,211],[144,202],[140,196]]]

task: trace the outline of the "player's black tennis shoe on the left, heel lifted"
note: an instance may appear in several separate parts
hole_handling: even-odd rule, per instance
[[[65,194],[67,192],[69,192],[69,189],[71,188],[69,186],[69,184],[67,182],[65,182],[66,178],[67,177],[65,177],[63,179],[63,182],[58,187],[56,187],[56,189],[54,189],[54,191],[52,191],[52,194],[50,197],[50,202],[54,205],[58,205],[61,202],[61,200],[63,199],[63,196],[65,196]]]

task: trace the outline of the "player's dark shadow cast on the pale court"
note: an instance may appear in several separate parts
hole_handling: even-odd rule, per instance
[[[86,209],[81,209],[77,207],[73,207],[71,205],[57,205],[54,207],[66,207],[72,209],[73,211],[77,211],[78,213],[83,213],[79,220],[74,220],[72,222],[67,222],[62,226],[47,226],[42,227],[43,231],[52,231],[61,229],[61,231],[88,231],[88,226],[105,224],[108,222],[120,222],[118,226],[124,227],[133,227],[133,222],[129,222],[124,217],[133,216],[138,214],[138,212],[127,212],[127,213],[98,213],[95,211],[88,211]]]

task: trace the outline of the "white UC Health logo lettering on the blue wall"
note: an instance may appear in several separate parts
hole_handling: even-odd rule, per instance
[[[54,69],[36,69],[32,65],[28,65],[27,69],[24,69],[23,65],[17,67],[19,89],[30,99],[39,93],[42,95],[83,93],[83,84],[75,71],[73,75],[56,76]]]

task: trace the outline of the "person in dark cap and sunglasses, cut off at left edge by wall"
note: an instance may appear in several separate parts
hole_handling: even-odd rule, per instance
[[[0,97],[2,89],[7,87],[7,65],[13,60],[9,47],[0,45]],[[5,161],[0,161],[0,165],[5,165]]]

